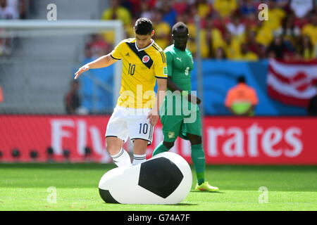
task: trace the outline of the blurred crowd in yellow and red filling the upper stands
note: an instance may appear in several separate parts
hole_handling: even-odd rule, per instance
[[[259,20],[259,4],[268,6],[268,20]],[[196,53],[194,15],[201,18],[201,56],[230,60],[312,60],[317,58],[316,0],[111,0],[101,20],[121,20],[133,37],[135,20],[154,24],[155,41],[171,44],[170,30],[182,21],[189,27],[187,49]],[[101,56],[113,48],[113,32],[93,35],[85,48]]]

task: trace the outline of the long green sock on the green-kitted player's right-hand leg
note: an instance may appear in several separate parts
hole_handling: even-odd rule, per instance
[[[192,145],[192,162],[194,163],[196,175],[197,175],[197,183],[201,185],[205,181],[205,153],[202,148],[201,143],[198,145]]]

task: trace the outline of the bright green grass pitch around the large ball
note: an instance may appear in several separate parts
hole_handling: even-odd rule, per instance
[[[178,205],[107,204],[99,196],[101,176],[114,165],[0,164],[0,210],[317,210],[317,166],[209,165],[206,180],[221,193],[192,191]],[[56,203],[48,203],[50,186]],[[268,203],[259,203],[259,188]],[[260,197],[261,198],[261,197]]]

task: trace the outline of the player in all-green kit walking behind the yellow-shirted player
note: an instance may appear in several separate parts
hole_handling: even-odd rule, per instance
[[[192,91],[190,72],[194,68],[192,53],[186,49],[189,37],[188,28],[185,23],[176,23],[172,28],[174,44],[168,46],[166,62],[168,66],[168,93],[164,99],[164,108],[161,108],[161,123],[163,124],[163,141],[156,147],[153,155],[166,152],[174,146],[175,140],[180,136],[191,143],[191,157],[197,174],[196,190],[199,191],[219,191],[217,187],[210,186],[204,179],[205,155],[201,143],[201,117],[198,105],[201,101],[196,96],[189,94]],[[174,91],[172,94],[171,91]],[[178,98],[175,93],[178,92]],[[178,102],[177,102],[178,99]],[[180,99],[180,101],[179,101]],[[168,101],[173,101],[172,114]],[[185,104],[187,101],[188,104]],[[190,108],[190,115],[185,111]],[[181,109],[181,113],[177,113]],[[188,120],[193,117],[194,120]],[[186,122],[187,120],[187,122]],[[190,121],[190,122],[188,122]]]

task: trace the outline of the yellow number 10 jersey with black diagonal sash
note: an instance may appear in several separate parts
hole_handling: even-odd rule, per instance
[[[156,78],[167,79],[166,55],[151,40],[139,49],[135,38],[121,41],[111,52],[111,57],[123,60],[120,96],[117,105],[125,108],[152,108],[155,102]]]

